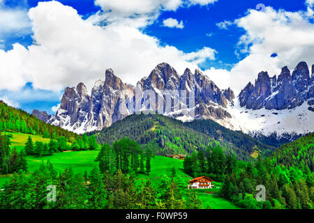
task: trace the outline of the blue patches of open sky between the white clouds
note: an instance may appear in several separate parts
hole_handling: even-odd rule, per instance
[[[100,6],[95,6],[93,0],[59,0],[59,2],[62,3],[64,6],[70,6],[72,8],[75,8],[75,10],[77,10],[77,13],[82,17],[82,20],[87,20],[88,18],[91,18],[91,16],[95,15],[97,12],[105,14],[106,8],[102,8],[101,6],[103,5],[101,4]],[[308,2],[313,1],[308,0]],[[246,35],[249,28],[246,29],[246,27],[243,28],[233,23],[227,26],[226,29],[222,29],[217,24],[224,21],[230,21],[232,23],[234,22],[234,20],[248,16],[248,10],[250,8],[255,9],[258,3],[263,3],[265,6],[271,6],[271,8],[273,8],[276,12],[278,12],[278,10],[284,10],[285,12],[297,13],[299,11],[306,12],[306,10],[308,10],[308,5],[306,5],[305,1],[218,0],[205,6],[196,4],[195,6],[177,7],[177,10],[159,10],[158,13],[156,13],[157,16],[156,18],[154,18],[153,22],[147,22],[147,24],[145,24],[144,26],[138,26],[137,29],[146,36],[157,38],[159,41],[158,47],[172,46],[175,47],[176,50],[184,52],[184,54],[197,52],[201,49],[204,49],[204,47],[213,49],[214,51],[216,51],[216,53],[214,53],[214,56],[207,55],[207,57],[197,62],[197,66],[199,68],[202,68],[202,70],[215,68],[217,70],[224,70],[224,72],[230,72],[232,68],[237,65],[237,63],[240,63],[242,60],[246,59],[247,56],[250,56],[252,54],[252,52],[250,51],[244,52],[242,50],[243,48],[238,45],[241,36]],[[4,1],[0,6],[3,8],[3,10],[21,10],[27,12],[30,8],[36,7],[37,5],[38,1],[36,0],[7,0]],[[112,13],[108,15],[114,17],[117,14]],[[143,15],[143,17],[144,16],[146,15]],[[176,29],[164,26],[163,21],[167,20],[168,18],[175,19],[178,22],[182,21],[184,24],[184,28]],[[107,19],[106,21],[109,20]],[[307,21],[309,21],[310,24],[313,24],[313,17],[307,18]],[[5,52],[9,52],[13,49],[13,44],[15,43],[19,43],[20,45],[27,47],[28,49],[29,46],[37,44],[34,44],[34,42],[38,42],[38,40],[43,41],[39,37],[36,37],[38,38],[38,40],[34,41],[34,33],[32,27],[32,22],[29,22],[29,26],[25,26],[23,29],[12,29],[13,31],[7,31],[7,33],[4,33],[2,36],[0,36],[0,47]],[[37,36],[37,34],[35,36]],[[252,46],[254,44],[255,43],[253,41],[252,43],[248,43],[249,46]],[[41,45],[44,44],[42,43]],[[267,54],[264,56],[270,57],[273,53],[277,54],[278,52],[270,51],[267,52]],[[280,57],[281,54],[278,53],[278,56]],[[289,62],[287,60],[284,61],[285,63]],[[38,61],[38,63],[40,62]],[[276,63],[279,62],[276,61]],[[294,61],[291,63],[294,64]],[[71,70],[72,68],[64,68],[63,70],[67,69]],[[102,70],[104,69],[105,67],[102,68]],[[151,70],[152,69],[153,67],[151,68]],[[3,75],[6,74],[0,73],[0,76]],[[96,80],[94,79],[93,75],[94,73],[91,74],[91,77],[93,77],[92,82]],[[144,77],[144,75],[148,74],[145,73],[140,76]],[[75,83],[78,84],[79,82],[84,81],[84,79],[75,79],[75,81],[64,82],[64,84],[61,83],[59,85],[56,85],[54,89],[49,89],[47,85],[40,83],[40,81],[36,80],[36,77],[38,76],[31,77],[31,81],[27,79],[29,76],[30,75],[25,75],[24,86],[23,84],[20,84],[17,89],[6,89],[5,87],[0,88],[0,98],[5,99],[12,105],[20,107],[27,112],[31,112],[33,109],[40,109],[52,114],[52,107],[59,104],[63,89],[68,84],[73,84],[74,86]],[[74,77],[76,76],[73,75],[73,78]],[[103,74],[100,74],[99,78],[103,78]],[[32,79],[34,80],[34,84],[31,83]],[[137,80],[139,79],[140,78],[138,78]],[[128,79],[126,78],[126,80]],[[35,88],[33,86],[35,86]],[[24,97],[21,97],[21,94],[24,94]]]

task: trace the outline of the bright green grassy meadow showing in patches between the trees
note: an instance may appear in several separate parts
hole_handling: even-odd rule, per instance
[[[13,138],[11,138],[12,146],[16,146],[17,149],[24,148],[24,144],[29,137],[28,134],[13,133]],[[43,139],[41,137],[31,136],[33,141],[43,141],[45,143],[49,142],[49,139]],[[89,173],[94,167],[98,167],[98,163],[94,162],[98,151],[80,151],[80,152],[63,152],[54,153],[54,155],[38,157],[29,156],[27,157],[28,171],[33,172],[40,167],[42,162],[50,162],[53,164],[54,169],[57,172],[61,172],[66,168],[72,167],[74,173],[84,174],[84,171]],[[169,157],[155,156],[151,159],[151,173],[149,176],[145,174],[137,175],[136,183],[142,183],[142,180],[151,180],[152,185],[155,187],[160,183],[163,176],[172,178],[172,169],[176,169],[176,174],[174,176],[175,180],[179,183],[179,186],[184,188],[188,185],[188,180],[192,178],[184,173],[183,171],[183,160],[176,160]],[[11,175],[0,176],[0,185],[3,185],[6,180],[10,178]],[[238,208],[232,202],[219,197],[216,192],[218,192],[221,183],[214,182],[214,189],[208,190],[197,190],[198,197],[202,201],[203,208],[212,209],[235,209]],[[181,190],[183,197],[186,197],[187,188]]]

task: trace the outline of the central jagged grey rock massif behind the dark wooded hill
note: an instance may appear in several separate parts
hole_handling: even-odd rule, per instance
[[[47,120],[46,113],[34,110],[33,114],[52,125],[83,133],[151,110],[182,121],[232,118],[225,109],[233,99],[231,89],[220,90],[200,70],[193,74],[186,69],[180,77],[169,64],[160,63],[136,87],[125,84],[107,69],[105,81],[98,80],[91,95],[83,83],[67,87],[56,115]]]

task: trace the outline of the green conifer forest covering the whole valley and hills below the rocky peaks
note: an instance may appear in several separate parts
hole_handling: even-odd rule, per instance
[[[187,189],[186,182],[198,176],[214,179],[218,187],[208,189],[209,194],[239,208],[314,207],[314,134],[274,149],[211,121],[181,123],[137,115],[100,132],[77,135],[0,105],[0,176],[9,177],[1,185],[1,208],[210,208],[204,193]],[[16,148],[12,145],[20,134],[27,139]],[[54,155],[71,159],[74,153],[94,154],[94,167],[77,172],[69,164],[56,169],[50,162]],[[167,154],[186,154],[182,169],[163,167],[163,174],[156,173],[152,160]],[[42,162],[36,161],[34,168],[32,160]],[[255,198],[258,185],[266,189],[265,201]],[[53,202],[47,200],[50,186],[56,191]]]

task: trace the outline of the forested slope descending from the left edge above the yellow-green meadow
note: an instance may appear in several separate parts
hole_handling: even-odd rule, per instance
[[[10,107],[2,101],[0,101],[0,132],[22,132],[56,139],[57,137],[66,137],[68,141],[78,137],[73,132],[44,123],[35,116],[21,109]]]

